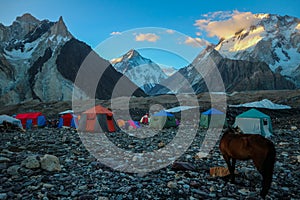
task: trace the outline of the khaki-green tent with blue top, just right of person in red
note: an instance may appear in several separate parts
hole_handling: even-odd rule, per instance
[[[176,127],[175,115],[164,110],[155,113],[151,116],[150,127],[155,129],[163,129]]]

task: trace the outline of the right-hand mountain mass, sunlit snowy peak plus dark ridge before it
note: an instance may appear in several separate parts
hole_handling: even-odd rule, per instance
[[[298,18],[258,14],[250,27],[208,46],[150,94],[220,91],[222,84],[227,92],[300,88],[299,30]],[[222,84],[214,83],[212,66]]]

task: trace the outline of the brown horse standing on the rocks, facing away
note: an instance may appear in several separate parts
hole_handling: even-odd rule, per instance
[[[272,182],[276,157],[274,144],[261,135],[243,134],[236,129],[228,128],[221,138],[219,147],[227,163],[232,183],[234,183],[236,160],[253,160],[255,167],[262,175],[260,195],[265,198]]]

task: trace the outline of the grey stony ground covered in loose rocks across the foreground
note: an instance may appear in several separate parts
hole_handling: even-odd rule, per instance
[[[236,115],[242,110],[230,112]],[[300,199],[299,111],[294,116],[290,112],[268,111],[273,121],[271,140],[276,146],[277,161],[266,199]],[[192,126],[184,128],[187,133],[193,131]],[[135,137],[142,132],[149,135]],[[178,129],[167,129],[153,134],[144,126],[107,133],[105,137],[119,148],[145,153],[170,144],[177,132]],[[199,129],[189,148],[176,159],[196,170],[178,169],[171,164],[147,173],[127,173],[105,166],[88,151],[93,146],[85,146],[75,130],[44,128],[0,133],[0,199],[259,199],[261,178],[251,161],[237,162],[237,184],[210,176],[210,167],[225,166],[225,162],[218,144],[208,157],[195,157],[205,133]],[[99,142],[94,145],[101,145]],[[59,167],[43,167],[46,154],[56,156]],[[111,160],[114,156],[111,154]],[[34,158],[33,164],[28,164],[29,158]],[[130,159],[140,161],[137,157]],[[156,162],[160,165],[162,161]]]

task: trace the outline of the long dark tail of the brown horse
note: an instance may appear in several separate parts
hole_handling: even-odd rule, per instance
[[[276,150],[272,142],[269,143],[269,152],[266,156],[266,159],[263,162],[262,172],[263,172],[263,182],[262,182],[262,191],[260,195],[265,198],[268,194],[268,191],[271,187],[274,165],[276,160]]]

